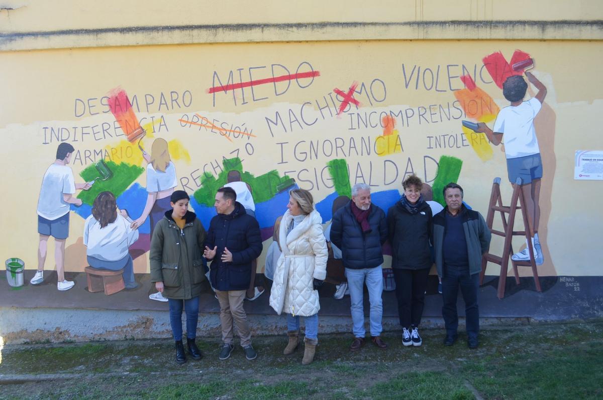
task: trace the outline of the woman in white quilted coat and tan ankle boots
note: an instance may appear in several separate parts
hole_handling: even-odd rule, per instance
[[[280,315],[287,314],[289,343],[283,353],[290,355],[298,347],[300,316],[305,317],[306,337],[301,364],[314,360],[318,344],[318,286],[327,274],[327,244],[318,211],[308,190],[289,192],[288,210],[279,228],[282,254],[274,271],[270,306]]]

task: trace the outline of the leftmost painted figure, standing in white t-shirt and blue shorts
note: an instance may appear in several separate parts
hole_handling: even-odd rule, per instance
[[[38,233],[38,268],[30,280],[32,285],[44,282],[44,263],[48,251],[48,239],[54,237],[54,259],[57,264],[57,289],[69,290],[74,282],[65,279],[65,241],[69,236],[70,205],[80,206],[81,199],[75,198],[76,190],[88,190],[91,184],[75,183],[71,167],[74,147],[69,143],[61,143],[57,148],[56,160],[48,167],[42,178],[42,187],[37,205]]]

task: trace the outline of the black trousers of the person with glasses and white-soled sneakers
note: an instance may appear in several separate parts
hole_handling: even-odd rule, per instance
[[[400,317],[400,326],[406,329],[410,329],[411,326],[418,327],[421,323],[429,269],[394,268],[398,316]]]

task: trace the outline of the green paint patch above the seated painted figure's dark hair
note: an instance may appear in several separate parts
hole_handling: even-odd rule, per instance
[[[134,166],[127,163],[113,163],[113,161],[106,161],[106,166],[109,167],[112,173],[111,178],[106,181],[101,180],[99,176],[101,173],[96,169],[95,164],[86,167],[80,176],[86,182],[95,181],[89,190],[82,190],[77,196],[86,204],[92,205],[98,193],[109,191],[118,197],[125,192],[131,184],[144,172],[144,168]]]

